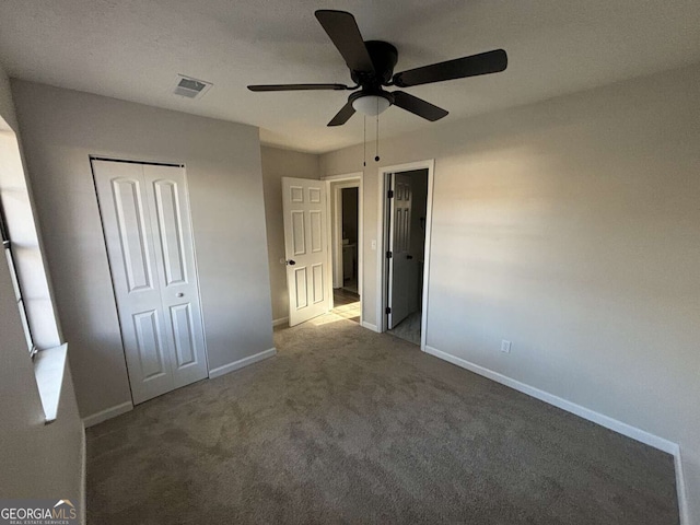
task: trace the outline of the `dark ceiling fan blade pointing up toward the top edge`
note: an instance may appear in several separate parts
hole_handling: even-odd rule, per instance
[[[348,67],[352,71],[373,73],[374,65],[354,16],[346,11],[330,9],[320,9],[315,14]]]

